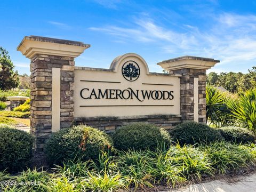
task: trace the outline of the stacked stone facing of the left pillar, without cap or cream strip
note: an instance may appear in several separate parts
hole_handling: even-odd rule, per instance
[[[36,54],[31,58],[31,129],[35,150],[43,151],[52,133],[52,68],[61,68],[60,128],[74,121],[74,58]]]

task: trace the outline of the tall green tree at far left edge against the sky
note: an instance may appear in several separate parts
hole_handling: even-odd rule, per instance
[[[8,55],[8,52],[0,47],[0,65],[2,70],[0,70],[0,89],[10,90],[19,85],[19,75],[18,71],[14,71],[14,65]]]

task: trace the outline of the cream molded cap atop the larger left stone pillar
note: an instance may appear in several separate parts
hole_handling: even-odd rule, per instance
[[[31,59],[35,54],[57,55],[64,57],[78,57],[91,45],[83,42],[69,41],[65,39],[25,36],[17,50]]]

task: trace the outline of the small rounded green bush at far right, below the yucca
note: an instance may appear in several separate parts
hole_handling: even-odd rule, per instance
[[[221,127],[221,135],[226,141],[236,143],[255,143],[255,136],[241,127],[227,126]]]

